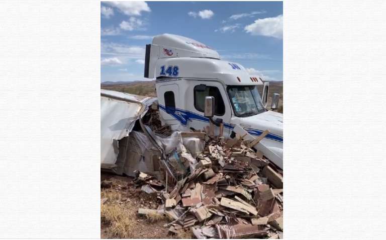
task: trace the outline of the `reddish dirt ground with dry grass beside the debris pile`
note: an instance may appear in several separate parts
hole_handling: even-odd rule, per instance
[[[101,238],[193,238],[190,230],[168,233],[166,217],[139,216],[138,208],[157,209],[161,201],[135,188],[131,177],[101,172],[103,180],[112,185],[101,187]]]

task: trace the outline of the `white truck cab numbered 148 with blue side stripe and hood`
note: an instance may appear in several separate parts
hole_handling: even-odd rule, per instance
[[[221,60],[198,41],[163,34],[146,45],[144,76],[156,79],[161,117],[172,129],[205,130],[211,121],[222,122],[226,138],[236,125],[255,137],[269,130],[260,142],[282,158],[282,114],[266,109],[269,84],[241,64]],[[204,114],[208,96],[214,98],[213,117]]]

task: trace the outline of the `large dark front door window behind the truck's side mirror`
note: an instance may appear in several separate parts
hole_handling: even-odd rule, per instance
[[[204,112],[205,109],[205,97],[215,97],[215,115],[222,116],[225,113],[225,105],[223,98],[221,97],[220,90],[217,87],[206,86],[203,90],[200,85],[195,86],[195,108],[197,111]]]

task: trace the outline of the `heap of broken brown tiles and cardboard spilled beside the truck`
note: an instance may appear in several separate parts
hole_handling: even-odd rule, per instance
[[[163,203],[138,213],[166,214],[170,232],[190,227],[197,238],[282,238],[282,172],[247,142],[205,138],[204,151],[180,166],[186,175],[174,184],[136,172],[135,184]]]

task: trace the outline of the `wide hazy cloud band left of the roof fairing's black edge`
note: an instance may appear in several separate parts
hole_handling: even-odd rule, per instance
[[[138,46],[102,42],[101,54],[124,56],[130,59],[142,59],[145,58],[145,49]]]

